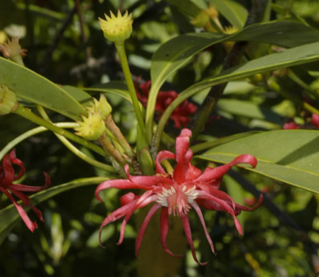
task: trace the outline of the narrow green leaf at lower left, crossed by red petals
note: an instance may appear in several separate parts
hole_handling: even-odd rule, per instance
[[[102,183],[104,180],[108,179],[109,178],[106,177],[94,177],[73,180],[69,183],[57,185],[53,188],[48,188],[46,190],[37,192],[36,194],[32,195],[30,199],[33,205],[37,205],[40,202],[48,200],[50,197],[58,195],[59,193],[65,192],[67,190],[72,190],[73,188],[80,188],[84,185],[97,185],[99,183]],[[26,206],[25,210],[30,210],[30,208]],[[5,207],[4,209],[0,210],[0,244],[9,234],[14,224],[16,224],[16,222],[20,219],[20,215],[16,211],[16,207],[14,207],[13,205],[9,205],[8,207]]]

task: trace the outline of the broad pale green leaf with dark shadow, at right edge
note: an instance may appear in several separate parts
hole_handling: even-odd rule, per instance
[[[319,131],[266,131],[216,146],[196,157],[228,163],[246,153],[258,160],[256,168],[246,169],[319,193]]]

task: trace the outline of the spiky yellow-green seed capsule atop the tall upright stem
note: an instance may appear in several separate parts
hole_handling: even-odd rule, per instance
[[[104,13],[107,20],[99,18],[99,26],[101,27],[104,37],[108,40],[117,43],[126,40],[131,36],[132,33],[132,23],[131,13],[127,11],[121,16],[121,12],[117,11],[117,16],[110,11],[111,17]]]

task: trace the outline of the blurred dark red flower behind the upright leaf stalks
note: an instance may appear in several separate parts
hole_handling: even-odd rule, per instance
[[[135,82],[136,87],[138,85],[137,81]],[[139,100],[142,102],[144,107],[146,107],[147,104],[150,87],[151,80],[139,84],[139,87],[136,88],[137,97],[139,97]],[[173,90],[170,90],[168,92],[158,92],[155,106],[155,111],[158,112],[158,118],[161,118],[161,115],[163,114],[163,112],[165,112],[166,108],[177,97],[178,93]],[[194,114],[196,112],[196,109],[197,107],[193,103],[188,102],[188,100],[183,101],[171,114],[171,119],[173,119],[175,127],[178,129],[180,129],[182,126],[185,127],[190,121],[190,118],[188,116],[190,114]]]

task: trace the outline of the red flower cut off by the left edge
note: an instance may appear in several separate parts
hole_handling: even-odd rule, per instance
[[[20,172],[16,176],[12,164],[18,165],[20,167]],[[30,185],[13,183],[13,181],[20,179],[24,175],[25,171],[26,170],[24,168],[22,161],[16,158],[15,149],[13,149],[10,153],[6,154],[2,161],[2,165],[0,165],[0,191],[4,192],[4,194],[9,198],[9,200],[13,202],[13,205],[16,207],[16,210],[20,214],[23,222],[26,224],[26,227],[28,227],[28,229],[30,229],[31,232],[33,232],[36,229],[36,227],[38,227],[38,224],[36,222],[31,222],[31,219],[28,217],[28,214],[26,214],[26,211],[23,210],[23,207],[18,205],[13,195],[22,200],[23,206],[30,206],[31,209],[34,212],[36,212],[38,218],[41,221],[44,221],[40,210],[38,210],[31,204],[29,197],[24,195],[23,192],[38,192],[40,190],[48,188],[48,186],[50,185],[50,177],[47,173],[43,172],[43,174],[45,175],[45,185],[41,187],[33,187]]]

